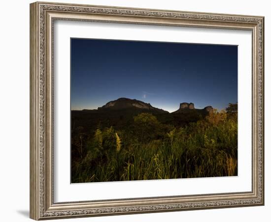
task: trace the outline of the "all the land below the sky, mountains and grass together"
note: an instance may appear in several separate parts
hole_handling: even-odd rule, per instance
[[[71,183],[237,176],[237,104],[169,113],[120,98],[71,111]]]

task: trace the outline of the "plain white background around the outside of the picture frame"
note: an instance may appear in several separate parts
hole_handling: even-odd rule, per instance
[[[271,6],[265,0],[65,0],[67,3],[157,8],[265,16],[265,180],[266,205],[216,210],[138,214],[69,221],[269,221],[271,173]],[[29,0],[1,2],[0,12],[0,220],[24,222],[29,219]],[[269,15],[268,15],[269,14]],[[166,188],[166,187],[165,187]],[[63,221],[63,220],[60,220]]]

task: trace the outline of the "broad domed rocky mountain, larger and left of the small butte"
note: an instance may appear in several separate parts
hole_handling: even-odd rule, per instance
[[[119,98],[114,101],[110,101],[106,103],[104,106],[99,107],[98,110],[124,110],[124,109],[141,109],[146,111],[154,111],[154,112],[168,112],[162,109],[158,109],[150,105],[149,103],[144,103],[135,99],[128,98]]]

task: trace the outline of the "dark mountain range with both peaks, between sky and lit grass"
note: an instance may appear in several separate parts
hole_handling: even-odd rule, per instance
[[[85,132],[94,132],[97,125],[113,126],[117,130],[129,128],[134,124],[134,117],[142,112],[151,113],[162,124],[185,126],[197,122],[213,111],[211,106],[195,109],[193,103],[181,103],[177,111],[169,113],[135,99],[119,98],[94,110],[71,111],[72,129],[82,126]]]

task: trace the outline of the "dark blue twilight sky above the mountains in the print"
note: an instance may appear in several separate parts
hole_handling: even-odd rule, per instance
[[[71,38],[71,109],[120,97],[225,109],[237,102],[237,46]]]

